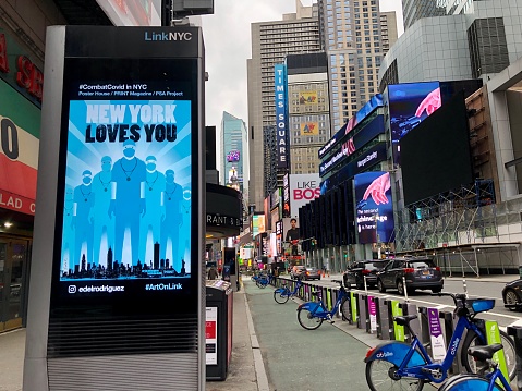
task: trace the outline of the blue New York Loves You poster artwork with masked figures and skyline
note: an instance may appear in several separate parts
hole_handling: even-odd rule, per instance
[[[61,280],[191,274],[191,101],[72,100]]]

